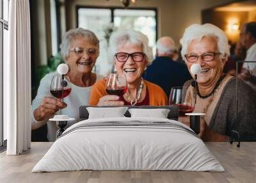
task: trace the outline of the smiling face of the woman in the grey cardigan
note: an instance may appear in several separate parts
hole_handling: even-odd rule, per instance
[[[219,52],[216,38],[205,36],[200,41],[193,40],[188,45],[188,54],[202,55],[206,52]],[[186,63],[190,72],[190,68],[194,63],[189,63],[188,61]],[[222,74],[225,61],[221,60],[219,54],[216,54],[212,61],[204,61],[199,57],[195,63],[199,63],[201,66],[201,71],[197,79],[198,84],[207,85],[218,81]],[[191,74],[191,76],[193,76],[193,74]]]

